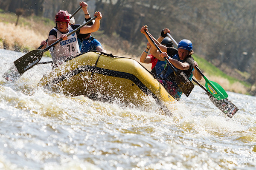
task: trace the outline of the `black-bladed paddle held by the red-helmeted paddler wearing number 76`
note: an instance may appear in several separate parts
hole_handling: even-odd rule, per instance
[[[81,26],[79,26],[75,30],[68,33],[67,37],[70,36],[71,34],[73,34],[74,32],[78,31],[79,29],[81,29],[83,26],[92,22],[95,18],[96,18],[96,16],[93,17],[92,19],[88,20],[86,23],[82,24]],[[14,64],[15,64],[18,72],[20,73],[20,75],[22,75],[25,71],[27,71],[28,69],[35,66],[40,61],[40,59],[42,58],[45,51],[49,50],[51,47],[53,47],[54,45],[58,44],[61,41],[62,41],[62,39],[59,39],[59,40],[55,41],[54,43],[52,43],[51,45],[49,45],[47,48],[45,48],[43,50],[36,49],[36,50],[30,51],[28,54],[25,54],[24,56],[17,59],[14,62]]]

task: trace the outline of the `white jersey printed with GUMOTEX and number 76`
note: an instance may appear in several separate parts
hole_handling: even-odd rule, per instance
[[[52,28],[57,32],[57,38],[61,37],[61,32],[56,28]],[[68,25],[68,31],[73,31],[73,28]],[[67,37],[67,40],[62,40],[57,45],[50,49],[53,63],[62,63],[64,59],[80,54],[79,44],[76,33]]]

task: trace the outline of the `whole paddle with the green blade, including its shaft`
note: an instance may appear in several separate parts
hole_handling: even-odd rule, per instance
[[[172,39],[172,42],[175,43],[176,46],[178,46],[178,43],[172,38],[172,36],[167,33],[167,36]],[[204,77],[205,79],[205,87],[207,90],[218,100],[226,99],[228,97],[227,92],[216,82],[209,81],[207,77],[204,76],[201,70],[197,66],[195,66],[195,69]]]

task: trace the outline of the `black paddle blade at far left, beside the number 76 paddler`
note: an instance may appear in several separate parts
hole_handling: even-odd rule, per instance
[[[22,75],[25,71],[32,68],[34,65],[36,65],[40,59],[43,57],[44,51],[40,49],[36,49],[33,51],[30,51],[29,53],[23,55],[19,59],[17,59],[14,64],[20,73]]]

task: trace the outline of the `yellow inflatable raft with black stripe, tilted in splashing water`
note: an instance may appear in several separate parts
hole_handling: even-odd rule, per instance
[[[175,99],[135,59],[87,52],[58,66],[39,86],[68,96],[145,105],[149,96],[164,109]]]

